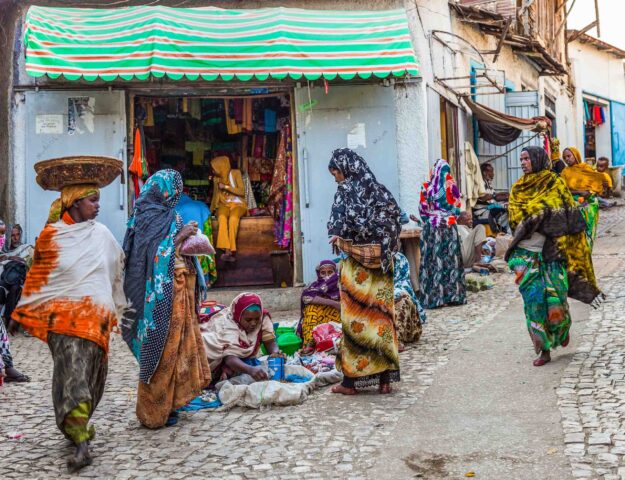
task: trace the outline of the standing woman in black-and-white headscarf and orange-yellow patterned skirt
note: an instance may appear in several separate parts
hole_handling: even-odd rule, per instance
[[[329,169],[338,187],[328,234],[343,254],[343,338],[336,365],[344,379],[332,392],[354,395],[356,388],[379,386],[380,393],[390,393],[391,382],[399,381],[393,255],[401,211],[355,152],[335,150]]]

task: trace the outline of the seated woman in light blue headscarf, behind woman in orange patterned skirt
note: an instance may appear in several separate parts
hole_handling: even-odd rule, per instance
[[[402,343],[418,342],[425,310],[410,283],[410,264],[403,253],[395,254],[395,329]],[[403,350],[403,345],[399,346]]]

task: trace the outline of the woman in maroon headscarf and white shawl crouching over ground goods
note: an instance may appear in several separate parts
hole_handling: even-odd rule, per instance
[[[242,293],[208,323],[202,324],[202,337],[213,382],[242,373],[254,380],[267,380],[267,372],[256,358],[261,344],[269,355],[282,356],[273,324],[263,310],[260,297]]]

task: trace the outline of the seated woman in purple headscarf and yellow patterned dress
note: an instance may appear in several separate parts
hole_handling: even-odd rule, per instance
[[[339,276],[336,263],[324,260],[317,265],[317,280],[302,292],[302,318],[297,328],[305,350],[314,346],[312,331],[322,323],[341,323]]]

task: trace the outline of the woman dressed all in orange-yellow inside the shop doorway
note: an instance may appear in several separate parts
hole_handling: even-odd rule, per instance
[[[221,259],[236,261],[237,233],[241,217],[247,213],[245,184],[240,170],[230,168],[226,156],[211,160],[215,177],[213,179],[213,199],[211,212],[216,212],[219,221],[217,248],[224,251]]]

